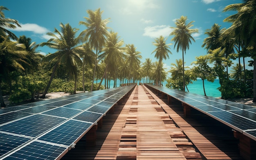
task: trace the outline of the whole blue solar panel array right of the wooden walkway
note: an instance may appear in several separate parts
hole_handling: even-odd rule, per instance
[[[172,88],[145,84],[185,103],[200,112],[256,140],[256,108],[240,103],[184,92]]]

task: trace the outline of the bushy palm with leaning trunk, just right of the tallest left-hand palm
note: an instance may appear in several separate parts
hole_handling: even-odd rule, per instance
[[[112,72],[112,75],[114,77],[114,85],[116,84],[115,75],[117,73],[117,69],[119,68],[122,61],[124,61],[125,57],[123,53],[124,48],[121,47],[123,46],[123,44],[123,39],[119,40],[119,36],[117,35],[117,33],[111,31],[110,35],[107,38],[106,46],[105,48],[103,48],[104,53],[99,56],[100,59],[104,59],[106,63],[106,69],[101,79],[101,82],[99,83],[98,90],[107,72]]]

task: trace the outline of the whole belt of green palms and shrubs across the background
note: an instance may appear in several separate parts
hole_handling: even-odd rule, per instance
[[[78,34],[78,28],[70,24],[60,24],[60,30],[54,28],[53,33],[47,33],[52,38],[47,42],[36,44],[29,37],[16,37],[6,28],[20,27],[17,20],[5,18],[8,9],[0,7],[0,103],[5,107],[3,95],[10,95],[12,103],[19,103],[26,99],[45,98],[47,92],[93,91],[110,88],[110,81],[117,87],[120,83],[134,83],[144,81],[162,85],[167,79],[167,72],[163,68],[162,60],[168,59],[170,45],[166,44],[166,37],[154,39],[155,46],[152,54],[158,61],[152,63],[147,58],[141,64],[141,53],[134,44],[124,44],[118,33],[109,31],[109,19],[103,20],[103,11],[88,10],[88,17],[80,21],[79,25],[87,27]],[[230,28],[222,28],[214,24],[205,34],[202,47],[207,49],[207,55],[196,57],[195,67],[187,69],[184,66],[184,54],[189,45],[195,40],[191,29],[193,22],[187,23],[187,17],[181,16],[176,20],[176,27],[170,36],[177,52],[182,51],[182,59],[171,64],[171,77],[167,79],[167,87],[184,90],[186,85],[200,78],[213,81],[220,79],[222,98],[256,97],[256,70],[245,70],[245,57],[252,57],[255,61],[255,15],[256,2],[243,0],[240,4],[231,4],[224,11],[237,11],[236,14],[225,18],[231,22]],[[39,46],[55,49],[55,53],[44,56],[37,51]],[[239,64],[230,71],[232,59],[239,59]],[[243,66],[240,58],[243,58]],[[254,61],[249,65],[254,66]],[[210,64],[213,67],[210,67]],[[186,70],[185,70],[186,69]],[[252,79],[253,77],[253,79]],[[96,81],[96,83],[95,83]],[[103,83],[104,81],[104,83]],[[104,85],[102,85],[104,84]],[[235,93],[235,94],[234,94]]]

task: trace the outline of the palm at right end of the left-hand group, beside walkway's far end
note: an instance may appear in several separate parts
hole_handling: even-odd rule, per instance
[[[127,64],[130,68],[130,72],[128,75],[128,80],[131,80],[130,75],[135,73],[136,70],[139,70],[140,68],[140,59],[142,58],[142,56],[140,55],[139,51],[136,51],[136,47],[133,44],[126,44],[126,55],[127,55]],[[132,75],[133,78],[133,83],[135,81],[134,75]]]

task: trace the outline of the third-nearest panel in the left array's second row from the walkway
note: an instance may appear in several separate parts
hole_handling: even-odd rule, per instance
[[[52,115],[52,116],[70,118],[70,117],[78,114],[79,112],[81,112],[81,110],[60,107],[60,108],[56,108],[54,110],[43,112],[42,114],[48,114],[48,115]]]

